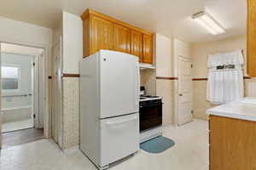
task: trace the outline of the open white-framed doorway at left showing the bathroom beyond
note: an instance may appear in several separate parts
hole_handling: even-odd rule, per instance
[[[1,45],[2,148],[44,137],[44,48]]]

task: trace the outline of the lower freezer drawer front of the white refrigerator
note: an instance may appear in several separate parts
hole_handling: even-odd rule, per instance
[[[101,121],[101,167],[139,149],[138,113]]]

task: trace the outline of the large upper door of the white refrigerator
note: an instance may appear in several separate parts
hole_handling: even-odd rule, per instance
[[[139,65],[136,56],[100,51],[100,118],[138,112]]]

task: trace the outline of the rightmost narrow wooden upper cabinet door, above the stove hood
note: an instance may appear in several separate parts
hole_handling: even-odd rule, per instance
[[[153,63],[152,35],[143,34],[143,63]]]

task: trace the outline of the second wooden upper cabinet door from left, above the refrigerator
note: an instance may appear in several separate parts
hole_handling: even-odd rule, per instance
[[[113,24],[113,50],[130,54],[131,32],[125,26]]]

